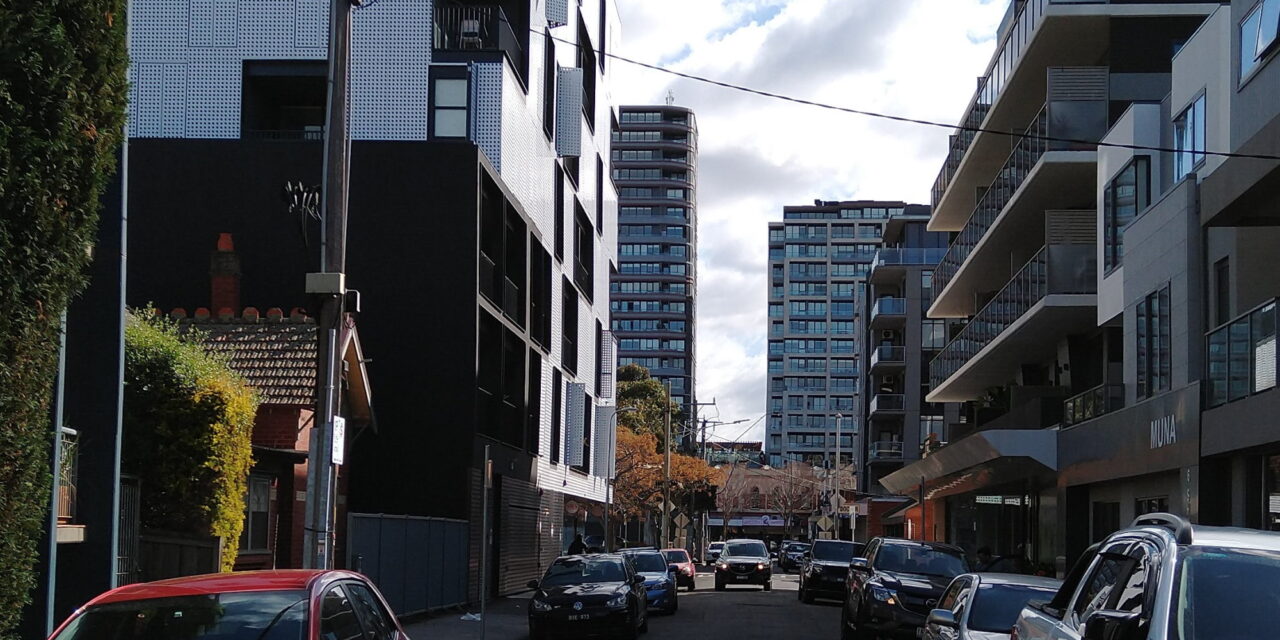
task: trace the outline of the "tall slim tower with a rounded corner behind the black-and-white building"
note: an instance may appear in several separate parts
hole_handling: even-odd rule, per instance
[[[698,122],[672,105],[618,109],[612,168],[618,189],[618,273],[609,282],[620,365],[671,385],[695,425]],[[687,431],[685,442],[692,436]]]

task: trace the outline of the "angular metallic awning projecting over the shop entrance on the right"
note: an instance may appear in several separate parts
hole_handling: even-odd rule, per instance
[[[954,442],[881,484],[890,493],[915,495],[924,483],[928,498],[936,498],[1056,470],[1056,430],[993,429]]]

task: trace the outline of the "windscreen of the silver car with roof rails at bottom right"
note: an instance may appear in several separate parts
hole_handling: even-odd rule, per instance
[[[1280,628],[1277,552],[1192,548],[1183,556],[1175,580],[1172,637],[1245,640]]]

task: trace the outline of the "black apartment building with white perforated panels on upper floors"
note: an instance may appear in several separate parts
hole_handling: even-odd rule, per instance
[[[326,8],[131,4],[129,305],[204,291],[183,256],[218,233],[243,252],[246,305],[311,305],[319,227],[298,193],[321,182]],[[617,115],[602,51],[617,15],[608,0],[353,15],[347,285],[379,404],[376,429],[347,438],[346,507],[472,521],[472,596],[484,539],[504,567],[488,584],[509,593],[603,532]]]

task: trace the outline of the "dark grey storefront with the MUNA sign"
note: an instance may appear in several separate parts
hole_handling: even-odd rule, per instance
[[[1143,513],[1197,520],[1199,394],[1192,384],[1059,433],[1068,564]]]

